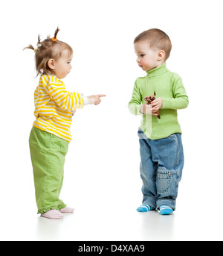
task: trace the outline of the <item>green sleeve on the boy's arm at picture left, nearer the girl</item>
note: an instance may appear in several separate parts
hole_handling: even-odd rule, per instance
[[[137,81],[135,81],[132,92],[132,99],[129,102],[128,107],[130,113],[132,113],[135,116],[140,115],[140,108],[142,107],[142,96],[140,94]]]

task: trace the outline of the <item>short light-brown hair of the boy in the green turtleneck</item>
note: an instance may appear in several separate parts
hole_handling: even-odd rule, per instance
[[[165,51],[165,61],[168,59],[170,51],[172,49],[172,43],[169,40],[164,31],[158,28],[152,28],[147,31],[143,31],[137,37],[135,37],[134,43],[146,42],[149,43],[149,47],[152,49],[160,49]]]

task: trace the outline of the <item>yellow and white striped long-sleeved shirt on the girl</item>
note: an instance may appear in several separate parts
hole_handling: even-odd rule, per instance
[[[87,97],[68,92],[63,82],[54,75],[41,75],[34,102],[36,120],[33,126],[71,142],[71,110],[88,104]]]

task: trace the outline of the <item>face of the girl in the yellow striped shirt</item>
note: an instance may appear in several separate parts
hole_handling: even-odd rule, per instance
[[[54,74],[57,78],[65,78],[68,73],[71,71],[71,60],[72,55],[69,55],[68,49],[62,51],[61,56],[58,60],[54,60]]]

